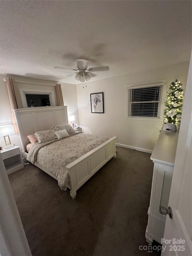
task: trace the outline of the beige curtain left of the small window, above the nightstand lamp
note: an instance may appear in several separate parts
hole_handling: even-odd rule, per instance
[[[19,133],[19,131],[18,131],[17,122],[16,122],[13,109],[18,108],[18,105],[15,97],[15,85],[14,85],[13,79],[11,78],[7,78],[7,90],[8,90],[10,106],[11,106],[11,116],[13,120],[13,127],[14,127],[15,133],[17,134]]]

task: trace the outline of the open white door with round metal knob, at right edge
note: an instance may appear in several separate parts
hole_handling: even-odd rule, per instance
[[[191,255],[191,69],[190,59],[161,256]]]

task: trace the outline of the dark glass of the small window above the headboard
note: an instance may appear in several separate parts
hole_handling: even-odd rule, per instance
[[[45,107],[51,106],[49,94],[26,94],[28,107]]]

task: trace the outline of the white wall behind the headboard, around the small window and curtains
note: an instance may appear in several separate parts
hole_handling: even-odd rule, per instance
[[[12,124],[11,109],[10,109],[9,96],[8,96],[8,92],[7,92],[7,85],[6,85],[6,82],[3,81],[3,78],[6,78],[6,77],[7,77],[7,75],[0,74],[0,125]],[[29,77],[19,77],[19,76],[9,76],[9,77],[14,78],[15,80],[37,83],[37,84],[29,84],[29,83],[16,82],[18,94],[19,94],[19,88],[44,89],[44,90],[54,90],[55,91],[54,85],[57,83],[55,81],[40,80],[40,79],[29,78]],[[52,84],[53,86],[38,85],[38,83]],[[79,124],[79,112],[78,112],[78,105],[77,105],[76,85],[65,84],[65,83],[61,83],[61,85],[62,85],[64,105],[68,106],[68,108],[67,108],[68,113],[75,115],[76,123]],[[55,92],[55,102],[57,104],[56,92]],[[22,144],[21,144],[19,134],[10,135],[10,140],[11,140],[11,143],[20,146],[20,149],[22,149]],[[0,138],[0,145],[5,146],[4,139],[2,137]]]

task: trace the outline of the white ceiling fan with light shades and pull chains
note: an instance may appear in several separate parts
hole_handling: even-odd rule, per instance
[[[94,77],[95,74],[92,72],[98,72],[98,71],[109,71],[109,67],[108,66],[104,66],[104,67],[96,67],[96,68],[89,68],[87,69],[88,66],[88,60],[86,59],[77,59],[75,61],[77,69],[73,69],[73,68],[65,68],[65,67],[59,67],[56,66],[54,68],[60,68],[60,69],[71,69],[71,70],[75,70],[78,71],[76,73],[75,79],[77,81],[80,82],[85,82],[91,79],[91,77]]]

